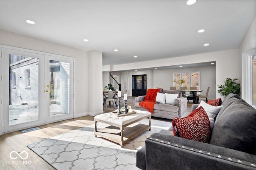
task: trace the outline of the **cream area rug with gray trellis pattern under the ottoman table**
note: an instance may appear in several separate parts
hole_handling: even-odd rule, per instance
[[[147,124],[148,119],[139,123]],[[97,128],[108,127],[97,123]],[[168,129],[170,122],[151,119],[151,131],[146,131],[124,145],[94,137],[94,124],[49,139],[32,143],[27,147],[57,170],[138,170],[136,152],[145,145],[152,133]]]

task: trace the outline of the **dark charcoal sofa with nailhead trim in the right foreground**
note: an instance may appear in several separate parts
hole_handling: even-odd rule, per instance
[[[161,130],[138,150],[136,166],[142,170],[256,170],[256,109],[234,94],[222,105],[209,144]]]

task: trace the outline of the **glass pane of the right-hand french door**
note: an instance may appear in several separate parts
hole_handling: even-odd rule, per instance
[[[69,114],[70,63],[50,60],[50,117]]]

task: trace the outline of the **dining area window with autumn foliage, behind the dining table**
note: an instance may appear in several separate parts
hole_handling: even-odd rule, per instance
[[[186,87],[189,89],[190,87],[197,87],[196,89],[200,89],[200,73],[199,72],[191,72],[191,73],[175,73],[174,80],[184,79],[185,83],[182,84],[182,87]],[[179,84],[174,83],[176,89],[180,87]]]

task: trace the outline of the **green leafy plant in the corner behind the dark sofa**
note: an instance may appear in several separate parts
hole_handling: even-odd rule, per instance
[[[236,82],[236,80],[238,80],[238,78],[226,78],[224,85],[218,85],[218,88],[220,88],[220,90],[218,90],[218,93],[220,93],[221,96],[225,97],[228,96],[228,94],[230,93],[240,96],[240,84]]]

